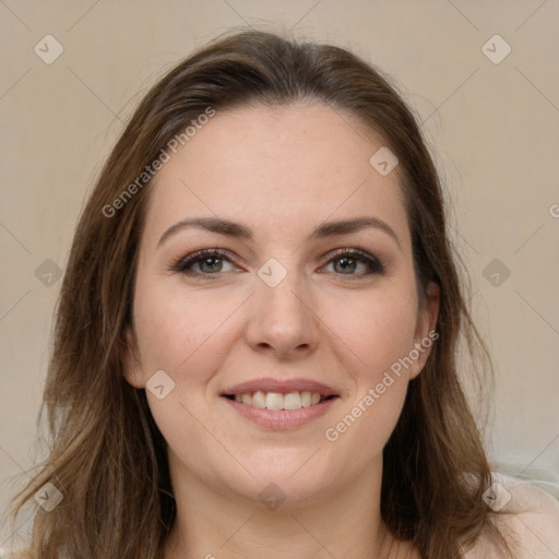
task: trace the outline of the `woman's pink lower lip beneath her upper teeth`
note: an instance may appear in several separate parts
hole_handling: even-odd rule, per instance
[[[332,405],[340,400],[338,397],[332,397],[324,400],[324,402],[320,404],[300,407],[299,409],[278,409],[274,412],[265,407],[252,407],[225,396],[222,396],[222,399],[247,419],[270,429],[294,429],[307,425],[313,419],[324,415]]]

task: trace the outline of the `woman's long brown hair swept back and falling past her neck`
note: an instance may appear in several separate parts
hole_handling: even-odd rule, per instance
[[[13,503],[15,518],[46,483],[63,495],[53,510],[37,508],[29,547],[36,557],[159,556],[175,518],[166,445],[145,392],[123,377],[146,169],[209,108],[306,98],[357,116],[399,157],[418,290],[425,298],[429,282],[440,287],[440,337],[409,383],[383,451],[382,519],[429,559],[461,557],[486,530],[499,537],[483,500],[490,471],[457,374],[460,342],[472,357],[462,371],[467,378],[490,378],[491,365],[468,312],[441,186],[416,119],[385,78],[346,50],[248,31],[194,52],[146,94],[80,217],[39,413],[47,411],[50,454]]]

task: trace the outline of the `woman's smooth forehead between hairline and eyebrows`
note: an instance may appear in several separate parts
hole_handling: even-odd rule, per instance
[[[323,104],[217,110],[159,170],[146,227],[160,234],[186,217],[219,216],[264,238],[371,215],[405,238],[397,167],[382,176],[369,163],[383,145],[355,116]]]

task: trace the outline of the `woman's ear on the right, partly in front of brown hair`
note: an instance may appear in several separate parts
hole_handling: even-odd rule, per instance
[[[439,317],[440,287],[431,282],[427,286],[426,297],[420,301],[417,311],[417,323],[414,334],[414,347],[411,350],[414,365],[409,369],[409,379],[415,379],[425,367],[425,362],[431,353],[431,347],[439,337],[436,332],[437,318]]]

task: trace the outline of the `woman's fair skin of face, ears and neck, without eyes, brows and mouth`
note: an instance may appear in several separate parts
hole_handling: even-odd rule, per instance
[[[146,390],[177,499],[166,559],[417,556],[380,519],[382,449],[429,349],[335,442],[324,436],[437,319],[437,288],[417,297],[397,168],[383,177],[369,164],[382,145],[319,103],[247,106],[218,111],[156,177],[126,377],[144,388],[164,370],[175,382],[163,400]],[[250,227],[253,239],[183,228],[158,246],[177,222],[216,216]],[[322,222],[357,216],[382,219],[397,241],[379,228],[307,239]],[[332,260],[357,247],[380,258],[383,273],[365,275],[365,263],[344,273]],[[223,267],[171,270],[212,248],[229,252]],[[270,258],[287,272],[275,287],[258,275]],[[271,430],[219,396],[263,377],[317,380],[341,397],[302,427]],[[259,498],[270,483],[286,497],[275,510]]]

